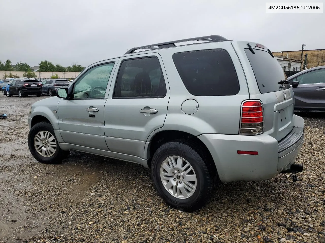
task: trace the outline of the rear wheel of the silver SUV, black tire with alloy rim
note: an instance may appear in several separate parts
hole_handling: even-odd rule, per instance
[[[183,161],[185,161],[183,162],[183,172],[182,170],[179,170],[181,173],[178,173],[178,168],[180,168],[179,166],[178,168],[174,167],[175,169],[171,166],[162,167],[162,164],[165,164],[167,158],[171,156],[174,158],[181,158]],[[204,154],[204,150],[200,149],[200,146],[188,140],[171,141],[161,145],[156,150],[151,162],[151,177],[158,193],[167,204],[182,211],[192,212],[200,209],[205,203],[209,201],[216,188],[217,173],[215,169],[211,168],[211,165],[207,164],[207,158],[208,156]],[[175,160],[176,165],[177,160]],[[191,168],[188,167],[186,163],[188,163]],[[168,168],[169,171],[164,170],[164,168]],[[188,174],[186,174],[184,171],[188,171],[188,169],[191,170],[188,172]],[[162,173],[165,173],[165,178],[172,179],[162,181],[161,171]],[[182,175],[184,175],[184,177],[180,177]],[[191,179],[196,178],[196,182],[190,182],[191,180],[188,180],[187,176],[191,176]],[[169,190],[174,189],[173,192],[175,192],[175,184],[177,183],[176,188],[178,191],[176,191],[176,195],[178,193],[178,197],[172,195],[173,192],[166,189],[166,187],[168,188],[168,185],[171,183],[174,183],[174,186]],[[189,186],[189,183],[192,184],[192,187]],[[166,184],[166,187],[164,184]],[[186,189],[185,193],[183,193],[182,191],[185,189],[179,189],[182,185],[184,188],[191,188],[192,192]],[[195,189],[193,190],[194,186]],[[181,193],[184,198],[181,198]]]

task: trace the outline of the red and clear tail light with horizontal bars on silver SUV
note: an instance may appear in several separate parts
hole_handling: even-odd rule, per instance
[[[247,100],[241,105],[240,134],[256,135],[264,131],[264,111],[259,100]]]

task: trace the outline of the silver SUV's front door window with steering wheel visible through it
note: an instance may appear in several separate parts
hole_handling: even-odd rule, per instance
[[[73,98],[103,99],[113,66],[114,62],[98,65],[87,70],[75,83]]]

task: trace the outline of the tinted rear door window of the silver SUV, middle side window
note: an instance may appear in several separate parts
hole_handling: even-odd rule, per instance
[[[156,57],[125,60],[121,63],[114,98],[159,98],[165,95],[165,80]]]

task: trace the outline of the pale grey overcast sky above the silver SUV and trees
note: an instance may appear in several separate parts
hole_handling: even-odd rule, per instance
[[[269,14],[265,2],[0,0],[0,60],[87,66],[135,46],[211,34],[273,52],[325,48],[325,13]]]

